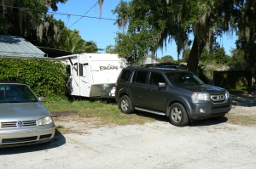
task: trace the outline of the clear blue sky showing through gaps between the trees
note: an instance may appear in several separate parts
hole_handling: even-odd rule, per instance
[[[58,11],[54,14],[56,20],[62,20],[67,28],[78,30],[79,35],[85,41],[96,42],[98,48],[105,49],[108,45],[114,45],[116,33],[122,31],[117,25],[114,25],[117,15],[112,10],[119,4],[119,0],[104,0],[102,5],[102,18],[112,19],[103,20],[96,19],[100,16],[99,5],[95,4],[98,0],[67,0],[67,3],[58,3]],[[70,15],[68,15],[70,14]],[[89,18],[74,15],[85,15],[96,18]],[[231,48],[236,48],[236,33],[231,35],[224,34],[222,38],[218,38],[221,47],[225,48],[226,54],[230,54]],[[100,51],[105,53],[105,51]],[[157,51],[157,57],[161,58],[165,55],[171,55],[177,60],[177,48],[175,42],[167,44],[166,48]],[[181,58],[181,56],[180,56]]]

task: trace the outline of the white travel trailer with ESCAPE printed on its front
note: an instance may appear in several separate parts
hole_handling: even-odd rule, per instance
[[[68,65],[70,95],[89,98],[114,97],[119,72],[126,66],[118,54],[73,54],[56,59]]]

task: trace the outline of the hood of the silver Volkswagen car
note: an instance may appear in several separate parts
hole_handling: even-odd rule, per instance
[[[0,103],[0,121],[34,121],[50,116],[39,102]]]

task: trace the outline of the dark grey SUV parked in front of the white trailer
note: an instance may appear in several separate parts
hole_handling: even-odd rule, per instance
[[[119,109],[166,115],[175,126],[224,116],[231,109],[227,90],[202,82],[188,70],[160,67],[125,68],[116,84]]]

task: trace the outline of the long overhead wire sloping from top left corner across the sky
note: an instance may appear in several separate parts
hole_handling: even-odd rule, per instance
[[[91,19],[99,19],[99,20],[113,20],[113,21],[116,21],[116,20],[111,19],[111,18],[100,18],[100,17],[96,17],[96,16],[84,16],[84,15],[80,15],[80,14],[64,14],[64,13],[57,13],[57,12],[45,11],[45,10],[38,10],[38,9],[33,9],[33,8],[13,7],[13,6],[2,5],[2,4],[0,4],[0,6],[2,6],[2,7],[8,7],[8,8],[26,9],[26,10],[31,10],[31,11],[41,12],[41,13],[62,14],[62,15],[77,16],[77,17],[81,17],[81,18],[91,18]]]

